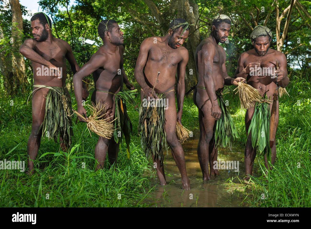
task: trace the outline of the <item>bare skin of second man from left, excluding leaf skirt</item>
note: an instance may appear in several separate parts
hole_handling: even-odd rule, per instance
[[[127,88],[133,90],[134,87],[129,83],[126,74],[123,69],[123,32],[117,23],[114,23],[111,32],[105,31],[104,45],[102,45],[91,59],[84,64],[81,69],[73,76],[73,86],[77,101],[82,102],[82,79],[93,73],[93,79],[95,82],[95,88],[97,90],[109,91],[112,93],[118,93],[122,90],[123,82]],[[111,42],[110,42],[110,41]],[[118,74],[118,69],[121,69],[121,74]],[[84,115],[87,119],[86,109],[82,106],[82,103],[77,103],[77,112]],[[97,104],[106,104],[107,114],[103,118],[114,120],[114,95],[94,91],[92,94],[92,102]],[[80,117],[79,121],[85,122]],[[106,159],[106,152],[108,150],[108,159],[110,165],[115,163],[118,158],[119,144],[114,141],[114,137],[107,139],[99,136],[98,142],[95,146],[95,159],[97,161],[96,170],[101,169],[104,166]]]

